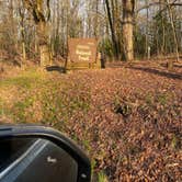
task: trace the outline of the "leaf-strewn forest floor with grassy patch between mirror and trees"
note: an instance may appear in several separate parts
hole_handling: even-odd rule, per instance
[[[164,66],[7,72],[0,121],[65,133],[90,156],[93,181],[182,181],[182,65]]]

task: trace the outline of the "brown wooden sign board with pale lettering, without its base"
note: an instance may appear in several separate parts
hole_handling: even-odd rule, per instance
[[[70,38],[68,41],[69,59],[71,62],[96,62],[95,38]]]

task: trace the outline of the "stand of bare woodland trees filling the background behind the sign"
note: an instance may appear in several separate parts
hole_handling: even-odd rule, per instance
[[[44,67],[50,50],[54,59],[67,57],[69,37],[96,37],[107,59],[132,61],[134,52],[146,58],[151,47],[151,56],[179,60],[181,7],[180,0],[0,1],[0,55]]]

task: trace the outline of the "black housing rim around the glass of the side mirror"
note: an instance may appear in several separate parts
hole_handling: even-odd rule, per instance
[[[3,139],[15,138],[39,138],[53,143],[77,162],[77,182],[90,182],[91,162],[89,158],[72,140],[64,136],[61,133],[49,127],[36,125],[0,126],[0,141]]]

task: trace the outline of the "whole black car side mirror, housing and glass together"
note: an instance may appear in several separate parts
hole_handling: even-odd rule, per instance
[[[89,158],[43,126],[0,126],[0,182],[90,182]]]

